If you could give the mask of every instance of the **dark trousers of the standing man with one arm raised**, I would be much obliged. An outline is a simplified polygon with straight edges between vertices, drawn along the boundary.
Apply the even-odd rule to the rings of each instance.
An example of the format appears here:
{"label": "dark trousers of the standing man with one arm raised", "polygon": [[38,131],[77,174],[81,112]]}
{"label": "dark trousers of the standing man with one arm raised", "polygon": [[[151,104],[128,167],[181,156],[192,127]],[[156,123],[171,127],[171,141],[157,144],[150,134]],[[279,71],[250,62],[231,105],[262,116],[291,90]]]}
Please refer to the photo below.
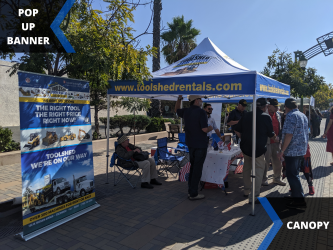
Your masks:
{"label": "dark trousers of the standing man with one arm raised", "polygon": [[198,185],[202,175],[202,167],[206,159],[207,148],[188,148],[190,152],[190,176],[188,179],[188,193],[191,197],[198,195]]}

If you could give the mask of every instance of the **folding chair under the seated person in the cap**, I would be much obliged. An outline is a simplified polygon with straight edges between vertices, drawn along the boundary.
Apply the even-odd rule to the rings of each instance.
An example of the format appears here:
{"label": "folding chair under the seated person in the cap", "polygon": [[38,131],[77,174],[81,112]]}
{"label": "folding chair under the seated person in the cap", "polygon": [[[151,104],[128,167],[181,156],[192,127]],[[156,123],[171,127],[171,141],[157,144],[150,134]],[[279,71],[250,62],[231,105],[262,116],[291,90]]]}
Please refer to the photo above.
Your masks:
{"label": "folding chair under the seated person in the cap", "polygon": [[[118,142],[115,142],[114,143],[114,148],[116,149],[117,146],[118,146]],[[121,164],[120,164],[120,161],[119,160],[122,160],[122,161],[126,161],[126,162],[131,162],[132,165],[130,167],[123,167]],[[119,157],[117,155],[116,152],[113,153],[112,157],[111,157],[111,162],[110,162],[110,167],[114,167],[114,176],[113,176],[113,179],[114,179],[114,185],[116,186],[122,179],[126,179],[126,181],[130,184],[130,186],[132,188],[136,188],[136,184],[138,183],[139,180],[141,180],[141,170],[138,166],[138,164],[135,162],[135,161],[132,161],[131,159],[129,160],[125,160],[121,157]],[[118,175],[118,178],[116,180],[116,168],[118,169],[119,171],[119,175]],[[130,174],[130,172],[132,172]],[[137,181],[135,182],[135,184],[132,184],[130,182],[130,179],[136,175],[136,173],[139,174],[139,178],[137,179]]]}

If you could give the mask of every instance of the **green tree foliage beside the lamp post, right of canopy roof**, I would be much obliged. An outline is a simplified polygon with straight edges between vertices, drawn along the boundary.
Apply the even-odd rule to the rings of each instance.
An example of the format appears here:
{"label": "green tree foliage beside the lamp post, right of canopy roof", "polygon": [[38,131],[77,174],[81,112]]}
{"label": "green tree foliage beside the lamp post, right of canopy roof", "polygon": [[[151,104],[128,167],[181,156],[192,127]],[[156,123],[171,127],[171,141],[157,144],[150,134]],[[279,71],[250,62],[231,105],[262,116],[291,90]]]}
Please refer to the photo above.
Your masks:
{"label": "green tree foliage beside the lamp post, right of canopy roof", "polygon": [[294,97],[309,97],[325,84],[324,77],[317,75],[315,68],[302,69],[298,61],[292,60],[290,53],[279,49],[274,50],[268,57],[261,73],[290,85],[290,92]]}

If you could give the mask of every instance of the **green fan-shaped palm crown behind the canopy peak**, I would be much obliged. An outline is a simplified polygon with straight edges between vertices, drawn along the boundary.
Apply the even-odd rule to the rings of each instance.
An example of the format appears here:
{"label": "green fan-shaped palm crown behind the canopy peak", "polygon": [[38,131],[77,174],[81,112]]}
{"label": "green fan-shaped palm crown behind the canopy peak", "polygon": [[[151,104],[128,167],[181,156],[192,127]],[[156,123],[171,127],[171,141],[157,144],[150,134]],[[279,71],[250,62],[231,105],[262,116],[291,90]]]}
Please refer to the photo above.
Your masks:
{"label": "green fan-shaped palm crown behind the canopy peak", "polygon": [[162,33],[165,43],[162,53],[169,64],[184,58],[197,46],[195,37],[200,30],[193,28],[192,23],[192,19],[186,22],[184,16],[174,17],[172,23],[168,23],[170,30]]}

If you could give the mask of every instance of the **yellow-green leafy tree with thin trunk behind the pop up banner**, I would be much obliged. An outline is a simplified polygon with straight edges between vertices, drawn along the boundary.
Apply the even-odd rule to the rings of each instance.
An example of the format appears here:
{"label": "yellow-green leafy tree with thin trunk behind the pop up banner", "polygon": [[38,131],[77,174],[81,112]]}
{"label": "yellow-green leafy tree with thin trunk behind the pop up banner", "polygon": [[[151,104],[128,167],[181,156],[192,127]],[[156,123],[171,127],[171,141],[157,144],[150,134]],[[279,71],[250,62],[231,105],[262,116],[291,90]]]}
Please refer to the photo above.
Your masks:
{"label": "yellow-green leafy tree with thin trunk behind the pop up banner", "polygon": [[108,80],[131,79],[143,83],[150,77],[146,67],[147,57],[155,53],[150,46],[137,49],[132,44],[133,29],[128,23],[134,22],[132,12],[136,5],[125,0],[106,2],[109,3],[107,13],[94,10],[86,0],[77,2],[65,32],[76,51],[75,54],[68,54],[68,72],[70,77],[90,82],[91,105],[96,106],[94,117],[97,132],[97,106],[105,102]]}

